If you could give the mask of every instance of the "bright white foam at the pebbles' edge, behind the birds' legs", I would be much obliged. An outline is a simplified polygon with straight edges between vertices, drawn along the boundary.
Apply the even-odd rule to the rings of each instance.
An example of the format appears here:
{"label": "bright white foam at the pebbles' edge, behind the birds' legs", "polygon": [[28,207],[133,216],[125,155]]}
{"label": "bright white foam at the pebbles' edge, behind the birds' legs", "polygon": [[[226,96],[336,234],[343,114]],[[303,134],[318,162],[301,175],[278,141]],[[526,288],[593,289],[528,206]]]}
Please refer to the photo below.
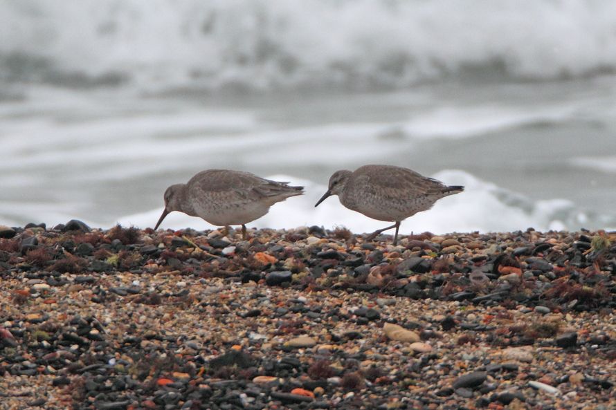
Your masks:
{"label": "bright white foam at the pebbles' edge, behind the birds' legs", "polygon": [[[434,175],[435,178],[451,185],[464,185],[465,191],[443,198],[426,212],[420,212],[402,223],[400,232],[430,231],[437,234],[446,232],[503,232],[525,230],[563,230],[579,228],[586,222],[586,214],[576,209],[570,201],[552,199],[531,201],[529,198],[507,192],[492,183],[487,183],[464,171],[448,170]],[[248,227],[293,228],[320,225],[327,229],[344,226],[353,232],[372,232],[388,225],[374,221],[362,214],[343,207],[337,197],[328,198],[314,207],[318,198],[326,191],[325,185],[300,180],[284,175],[269,176],[275,180],[291,181],[294,185],[305,185],[306,194],[289,198],[274,205],[269,214],[249,223]],[[161,200],[162,201],[162,200]],[[160,209],[119,218],[123,225],[138,227],[154,226]],[[107,226],[111,223],[107,223]],[[173,212],[161,225],[163,229],[193,227],[197,230],[211,229],[213,226],[200,218],[193,218]]]}

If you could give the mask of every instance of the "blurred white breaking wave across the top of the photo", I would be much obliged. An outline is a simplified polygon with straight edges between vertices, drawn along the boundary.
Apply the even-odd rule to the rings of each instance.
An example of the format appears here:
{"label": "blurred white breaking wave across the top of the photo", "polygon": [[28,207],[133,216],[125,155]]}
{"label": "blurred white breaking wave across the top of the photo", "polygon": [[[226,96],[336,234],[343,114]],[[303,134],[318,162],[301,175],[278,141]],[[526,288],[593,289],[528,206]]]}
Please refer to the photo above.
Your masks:
{"label": "blurred white breaking wave across the top of the photo", "polygon": [[9,0],[0,80],[399,86],[616,69],[613,1]]}

